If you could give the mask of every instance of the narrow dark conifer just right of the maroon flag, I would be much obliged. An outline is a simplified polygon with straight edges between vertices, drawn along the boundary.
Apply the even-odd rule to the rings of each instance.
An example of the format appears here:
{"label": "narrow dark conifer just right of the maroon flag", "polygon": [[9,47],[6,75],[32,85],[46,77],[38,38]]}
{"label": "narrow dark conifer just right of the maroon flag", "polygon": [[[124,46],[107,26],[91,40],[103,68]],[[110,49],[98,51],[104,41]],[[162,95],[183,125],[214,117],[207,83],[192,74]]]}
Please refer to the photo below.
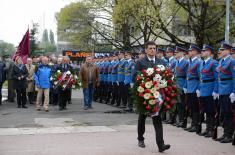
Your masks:
{"label": "narrow dark conifer just right of the maroon flag", "polygon": [[38,35],[38,23],[33,23],[33,28],[30,30],[30,56],[35,55],[35,51],[38,50],[37,35]]}

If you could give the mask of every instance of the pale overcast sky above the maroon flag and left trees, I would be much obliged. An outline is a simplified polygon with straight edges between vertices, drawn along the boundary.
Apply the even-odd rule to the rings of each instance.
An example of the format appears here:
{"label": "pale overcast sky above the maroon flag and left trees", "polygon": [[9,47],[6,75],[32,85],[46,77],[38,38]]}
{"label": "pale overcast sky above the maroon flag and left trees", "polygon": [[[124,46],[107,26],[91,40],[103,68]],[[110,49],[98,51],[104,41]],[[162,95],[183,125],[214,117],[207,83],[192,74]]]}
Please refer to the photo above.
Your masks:
{"label": "pale overcast sky above the maroon flag and left trees", "polygon": [[39,23],[40,33],[45,26],[56,35],[55,13],[72,1],[74,0],[0,0],[0,40],[17,46],[28,26],[32,27],[32,21]]}

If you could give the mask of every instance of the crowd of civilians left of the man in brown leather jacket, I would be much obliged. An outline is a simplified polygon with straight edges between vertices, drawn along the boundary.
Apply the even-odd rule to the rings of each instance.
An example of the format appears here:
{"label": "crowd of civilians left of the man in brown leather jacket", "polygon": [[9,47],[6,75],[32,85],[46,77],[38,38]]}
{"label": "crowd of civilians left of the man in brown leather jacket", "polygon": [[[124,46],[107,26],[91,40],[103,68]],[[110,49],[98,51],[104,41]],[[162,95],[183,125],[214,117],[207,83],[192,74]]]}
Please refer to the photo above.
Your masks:
{"label": "crowd of civilians left of the man in brown leather jacket", "polygon": [[[23,64],[21,57],[13,61],[7,58],[0,61],[0,88],[7,81],[8,102],[15,102],[18,108],[25,108],[26,103],[35,104],[36,110],[43,109],[48,112],[49,104],[59,105],[59,110],[66,110],[66,105],[71,104],[71,89],[62,90],[55,87],[51,76],[60,70],[62,73],[70,71],[78,74],[79,65],[70,62],[67,56],[40,56],[28,58]],[[2,101],[2,92],[0,93]]]}

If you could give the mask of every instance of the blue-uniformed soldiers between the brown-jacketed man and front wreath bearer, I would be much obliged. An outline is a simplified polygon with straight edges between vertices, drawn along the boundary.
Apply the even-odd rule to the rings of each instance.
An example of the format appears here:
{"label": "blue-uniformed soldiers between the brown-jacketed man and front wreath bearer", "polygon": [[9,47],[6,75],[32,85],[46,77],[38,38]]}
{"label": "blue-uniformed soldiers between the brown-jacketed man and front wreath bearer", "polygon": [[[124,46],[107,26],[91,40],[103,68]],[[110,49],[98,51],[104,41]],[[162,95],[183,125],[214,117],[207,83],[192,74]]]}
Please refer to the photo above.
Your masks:
{"label": "blue-uniformed soldiers between the brown-jacketed man and front wreath bearer", "polygon": [[94,59],[100,71],[100,85],[94,100],[132,111],[130,88],[133,86],[135,61],[130,52],[104,55]]}

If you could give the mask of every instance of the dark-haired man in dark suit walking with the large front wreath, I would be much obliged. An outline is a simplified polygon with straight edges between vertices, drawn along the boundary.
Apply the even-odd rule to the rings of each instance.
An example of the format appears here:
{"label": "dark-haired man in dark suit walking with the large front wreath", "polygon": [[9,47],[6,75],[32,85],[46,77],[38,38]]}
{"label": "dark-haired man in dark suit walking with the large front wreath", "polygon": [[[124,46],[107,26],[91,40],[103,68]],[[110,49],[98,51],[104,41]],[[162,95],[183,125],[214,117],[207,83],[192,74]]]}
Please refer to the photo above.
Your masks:
{"label": "dark-haired man in dark suit walking with the large front wreath", "polygon": [[[136,77],[137,71],[141,71],[142,69],[152,68],[156,65],[164,65],[166,66],[165,62],[161,59],[158,59],[156,57],[156,44],[153,41],[149,41],[145,44],[145,53],[146,56],[143,59],[140,59],[137,61],[134,71],[134,79]],[[139,113],[138,118],[138,145],[139,147],[144,148],[144,132],[145,132],[145,120],[147,118],[146,114]],[[162,127],[162,120],[161,120],[161,114],[152,116],[153,120],[153,126],[155,129],[155,135],[156,135],[156,142],[158,145],[159,152],[163,152],[165,150],[168,150],[170,148],[169,144],[164,144],[163,140],[163,127]]]}

